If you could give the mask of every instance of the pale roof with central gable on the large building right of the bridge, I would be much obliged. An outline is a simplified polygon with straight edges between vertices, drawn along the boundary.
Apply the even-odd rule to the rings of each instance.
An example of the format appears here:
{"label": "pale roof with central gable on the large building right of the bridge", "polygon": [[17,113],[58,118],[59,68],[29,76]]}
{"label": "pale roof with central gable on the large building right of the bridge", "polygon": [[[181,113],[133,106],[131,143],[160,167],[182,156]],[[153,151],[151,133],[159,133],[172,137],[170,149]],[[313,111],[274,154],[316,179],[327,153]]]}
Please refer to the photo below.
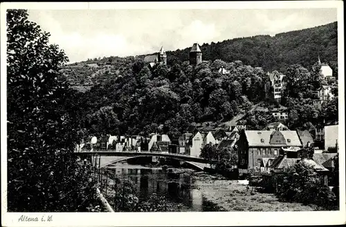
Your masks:
{"label": "pale roof with central gable on the large building right of the bridge", "polygon": [[[275,138],[280,137],[277,139],[280,141],[273,141],[272,134]],[[248,146],[302,146],[298,133],[295,131],[245,130],[245,135]]]}

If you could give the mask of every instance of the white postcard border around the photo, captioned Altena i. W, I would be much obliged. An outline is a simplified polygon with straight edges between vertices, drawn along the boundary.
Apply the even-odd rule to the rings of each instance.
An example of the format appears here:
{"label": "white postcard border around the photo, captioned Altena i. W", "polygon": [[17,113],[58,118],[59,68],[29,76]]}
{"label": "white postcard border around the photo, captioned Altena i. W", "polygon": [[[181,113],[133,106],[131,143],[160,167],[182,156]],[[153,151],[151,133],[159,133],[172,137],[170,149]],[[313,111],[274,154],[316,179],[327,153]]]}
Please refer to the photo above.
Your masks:
{"label": "white postcard border around the photo, captioned Altena i. W", "polygon": [[[345,223],[345,92],[343,1],[246,1],[246,2],[122,2],[122,3],[1,3],[1,226],[264,226]],[[6,9],[338,9],[338,78],[340,141],[340,211],[325,212],[222,212],[222,213],[28,213],[53,215],[53,221],[19,222],[26,213],[6,213]],[[342,138],[342,139],[341,139]]]}

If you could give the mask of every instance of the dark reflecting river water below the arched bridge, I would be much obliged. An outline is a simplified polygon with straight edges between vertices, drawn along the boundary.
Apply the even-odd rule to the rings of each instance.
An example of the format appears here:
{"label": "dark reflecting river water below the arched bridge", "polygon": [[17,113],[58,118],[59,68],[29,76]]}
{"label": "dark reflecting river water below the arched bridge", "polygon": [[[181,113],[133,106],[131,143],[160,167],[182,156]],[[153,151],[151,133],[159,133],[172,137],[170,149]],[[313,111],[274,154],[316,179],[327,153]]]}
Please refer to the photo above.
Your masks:
{"label": "dark reflecting river water below the arched bridge", "polygon": [[201,190],[194,185],[192,175],[196,170],[189,168],[149,167],[139,164],[117,163],[108,166],[108,170],[118,177],[130,179],[136,187],[137,197],[145,201],[156,193],[164,195],[174,211],[218,211],[219,208],[203,196]]}

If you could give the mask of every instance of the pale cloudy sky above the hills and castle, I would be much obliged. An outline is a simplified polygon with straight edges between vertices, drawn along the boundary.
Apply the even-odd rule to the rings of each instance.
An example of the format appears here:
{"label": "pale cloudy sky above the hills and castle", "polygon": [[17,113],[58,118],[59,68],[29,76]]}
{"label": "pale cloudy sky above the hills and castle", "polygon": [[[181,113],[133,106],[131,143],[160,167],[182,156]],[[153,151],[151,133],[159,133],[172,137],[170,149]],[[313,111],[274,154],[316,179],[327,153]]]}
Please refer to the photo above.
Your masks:
{"label": "pale cloudy sky above the hills and castle", "polygon": [[51,33],[71,63],[184,49],[258,34],[312,28],[337,21],[335,8],[271,10],[28,10]]}

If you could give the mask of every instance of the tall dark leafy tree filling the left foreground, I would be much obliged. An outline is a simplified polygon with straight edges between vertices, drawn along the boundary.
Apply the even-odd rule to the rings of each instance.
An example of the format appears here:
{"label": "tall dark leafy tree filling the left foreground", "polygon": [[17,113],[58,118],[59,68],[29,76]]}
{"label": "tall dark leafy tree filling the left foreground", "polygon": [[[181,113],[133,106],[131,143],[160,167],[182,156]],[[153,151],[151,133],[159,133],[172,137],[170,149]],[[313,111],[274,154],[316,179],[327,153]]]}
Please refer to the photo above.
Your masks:
{"label": "tall dark leafy tree filling the left foreground", "polygon": [[71,152],[73,91],[58,81],[68,60],[26,10],[7,12],[8,210],[86,211],[95,188]]}

